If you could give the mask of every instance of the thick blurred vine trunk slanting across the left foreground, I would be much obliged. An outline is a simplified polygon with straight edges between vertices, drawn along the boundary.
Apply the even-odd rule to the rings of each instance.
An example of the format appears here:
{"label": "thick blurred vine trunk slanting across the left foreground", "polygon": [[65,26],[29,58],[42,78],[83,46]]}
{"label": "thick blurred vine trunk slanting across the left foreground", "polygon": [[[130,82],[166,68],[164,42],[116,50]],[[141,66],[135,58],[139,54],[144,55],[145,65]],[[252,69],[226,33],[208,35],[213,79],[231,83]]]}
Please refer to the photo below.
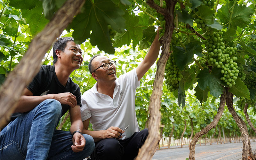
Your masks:
{"label": "thick blurred vine trunk slanting across the left foreground", "polygon": [[68,0],[65,2],[44,30],[31,41],[27,53],[8,75],[0,89],[0,127],[9,121],[25,86],[39,71],[44,54],[80,11],[84,2],[85,0]]}

